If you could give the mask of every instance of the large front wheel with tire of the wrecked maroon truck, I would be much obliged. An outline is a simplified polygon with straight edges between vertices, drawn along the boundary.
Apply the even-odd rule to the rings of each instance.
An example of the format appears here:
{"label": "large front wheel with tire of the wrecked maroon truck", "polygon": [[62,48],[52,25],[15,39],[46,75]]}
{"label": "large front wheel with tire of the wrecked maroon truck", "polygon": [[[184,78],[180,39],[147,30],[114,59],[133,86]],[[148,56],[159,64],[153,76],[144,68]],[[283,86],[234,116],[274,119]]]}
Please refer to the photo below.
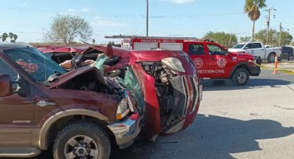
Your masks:
{"label": "large front wheel with tire of the wrecked maroon truck", "polygon": [[59,132],[53,145],[57,158],[109,158],[111,144],[107,133],[91,122],[75,122]]}

